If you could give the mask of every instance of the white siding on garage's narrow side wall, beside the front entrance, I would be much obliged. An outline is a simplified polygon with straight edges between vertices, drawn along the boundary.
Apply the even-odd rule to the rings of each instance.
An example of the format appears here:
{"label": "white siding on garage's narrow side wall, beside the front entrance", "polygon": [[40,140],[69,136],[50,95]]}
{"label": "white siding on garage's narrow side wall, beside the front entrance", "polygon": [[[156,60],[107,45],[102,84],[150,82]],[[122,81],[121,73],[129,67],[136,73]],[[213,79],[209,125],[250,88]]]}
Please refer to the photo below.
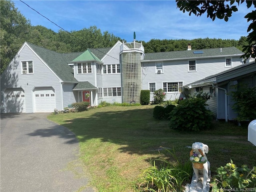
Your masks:
{"label": "white siding on garage's narrow side wall, beside the front entrance", "polygon": [[74,85],[75,84],[72,83],[62,84],[63,108],[76,102],[76,98],[74,96],[75,92],[72,91]]}

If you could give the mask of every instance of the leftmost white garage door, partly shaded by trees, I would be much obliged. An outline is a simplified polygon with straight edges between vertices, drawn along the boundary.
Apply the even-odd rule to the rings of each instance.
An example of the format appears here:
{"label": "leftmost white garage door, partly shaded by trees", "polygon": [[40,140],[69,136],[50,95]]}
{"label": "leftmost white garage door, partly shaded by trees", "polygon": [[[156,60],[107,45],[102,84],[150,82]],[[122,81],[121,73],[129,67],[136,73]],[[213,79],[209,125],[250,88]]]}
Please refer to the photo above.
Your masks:
{"label": "leftmost white garage door, partly shaded by trees", "polygon": [[22,88],[5,90],[6,113],[25,113],[25,93]]}

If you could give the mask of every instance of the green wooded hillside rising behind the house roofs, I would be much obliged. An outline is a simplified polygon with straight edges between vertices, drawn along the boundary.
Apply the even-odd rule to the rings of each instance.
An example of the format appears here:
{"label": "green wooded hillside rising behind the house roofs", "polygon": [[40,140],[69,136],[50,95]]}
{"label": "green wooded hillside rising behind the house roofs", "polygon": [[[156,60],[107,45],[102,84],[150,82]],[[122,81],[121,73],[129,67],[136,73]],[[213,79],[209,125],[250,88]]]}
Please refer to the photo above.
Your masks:
{"label": "green wooded hillside rising behind the house roofs", "polygon": [[[10,0],[1,0],[0,10],[1,74],[25,41],[61,53],[80,52],[87,48],[112,47],[118,40],[126,41],[108,31],[101,32],[96,26],[70,32],[64,30],[54,32],[44,26],[32,26],[30,20],[25,18]],[[242,50],[242,46],[248,44],[246,37],[241,37],[240,40],[198,38],[141,41],[146,53],[186,50],[188,43],[192,44],[193,50],[230,46]]]}

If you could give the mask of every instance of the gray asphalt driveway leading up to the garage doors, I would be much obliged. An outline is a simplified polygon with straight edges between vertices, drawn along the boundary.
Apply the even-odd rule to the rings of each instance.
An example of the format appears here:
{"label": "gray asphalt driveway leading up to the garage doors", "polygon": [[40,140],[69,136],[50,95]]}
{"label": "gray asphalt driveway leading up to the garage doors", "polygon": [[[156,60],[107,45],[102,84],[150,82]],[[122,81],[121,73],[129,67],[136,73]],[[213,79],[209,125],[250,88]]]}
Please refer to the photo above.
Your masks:
{"label": "gray asphalt driveway leading up to the garage doors", "polygon": [[1,114],[1,192],[94,192],[79,146],[47,113]]}

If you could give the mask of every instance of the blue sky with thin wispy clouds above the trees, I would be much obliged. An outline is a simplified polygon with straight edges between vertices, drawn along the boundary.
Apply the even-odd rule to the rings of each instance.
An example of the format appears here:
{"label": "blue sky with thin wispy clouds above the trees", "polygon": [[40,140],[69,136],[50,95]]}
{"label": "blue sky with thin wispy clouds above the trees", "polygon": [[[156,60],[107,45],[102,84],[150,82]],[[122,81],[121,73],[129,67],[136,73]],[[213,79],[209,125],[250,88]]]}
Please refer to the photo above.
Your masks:
{"label": "blue sky with thin wispy clouds above the trees", "polygon": [[[22,0],[23,1],[23,0]],[[24,1],[58,26],[67,31],[97,26],[103,33],[133,41],[148,42],[151,39],[221,38],[239,40],[247,36],[248,23],[244,16],[249,12],[246,4],[238,7],[225,22],[216,18],[214,22],[207,15],[196,17],[177,9],[175,1]],[[30,20],[33,26],[42,25],[58,32],[60,28],[40,16],[26,4],[14,0],[15,7]],[[251,9],[250,9],[251,10]]]}

